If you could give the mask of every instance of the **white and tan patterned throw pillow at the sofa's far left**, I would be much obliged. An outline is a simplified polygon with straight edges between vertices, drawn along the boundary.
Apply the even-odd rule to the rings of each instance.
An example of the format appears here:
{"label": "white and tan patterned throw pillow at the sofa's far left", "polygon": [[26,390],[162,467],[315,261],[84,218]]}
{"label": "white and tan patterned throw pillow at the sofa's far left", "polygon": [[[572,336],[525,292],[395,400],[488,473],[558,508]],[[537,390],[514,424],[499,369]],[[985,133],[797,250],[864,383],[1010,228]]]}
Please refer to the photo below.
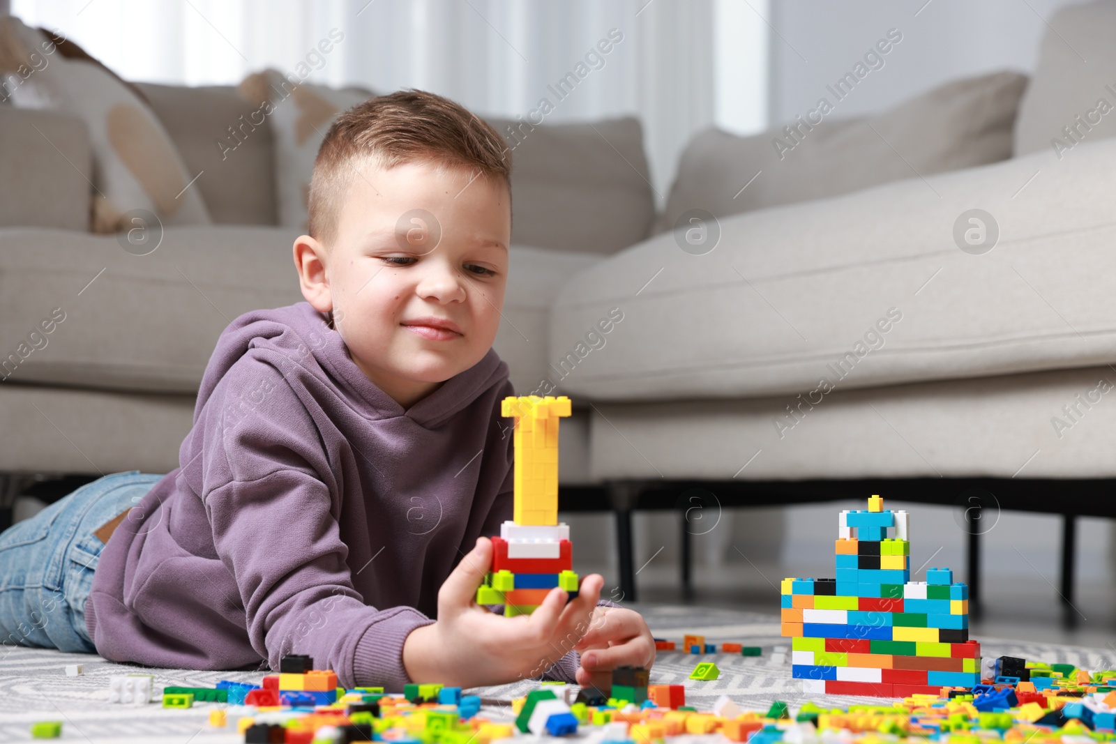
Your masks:
{"label": "white and tan patterned throw pillow at the sofa's far left", "polygon": [[[31,55],[51,45],[18,18],[0,18],[0,73],[33,66]],[[41,51],[40,51],[41,50]],[[94,231],[125,226],[132,210],[153,212],[164,224],[208,224],[209,213],[166,131],[147,105],[118,78],[88,60],[54,54],[16,86],[16,106],[49,108],[80,117],[88,128],[95,167]]]}

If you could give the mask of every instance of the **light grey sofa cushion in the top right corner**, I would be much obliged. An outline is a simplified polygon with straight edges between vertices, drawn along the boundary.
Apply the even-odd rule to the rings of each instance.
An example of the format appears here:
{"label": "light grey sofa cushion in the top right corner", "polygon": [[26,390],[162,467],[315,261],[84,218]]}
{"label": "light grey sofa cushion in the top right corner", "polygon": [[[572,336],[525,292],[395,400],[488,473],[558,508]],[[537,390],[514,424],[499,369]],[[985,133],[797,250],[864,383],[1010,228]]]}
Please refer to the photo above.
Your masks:
{"label": "light grey sofa cushion in the top right corner", "polygon": [[1116,135],[1116,2],[1066,6],[1047,26],[1019,105],[1014,153],[1045,151],[1050,164],[1078,142]]}

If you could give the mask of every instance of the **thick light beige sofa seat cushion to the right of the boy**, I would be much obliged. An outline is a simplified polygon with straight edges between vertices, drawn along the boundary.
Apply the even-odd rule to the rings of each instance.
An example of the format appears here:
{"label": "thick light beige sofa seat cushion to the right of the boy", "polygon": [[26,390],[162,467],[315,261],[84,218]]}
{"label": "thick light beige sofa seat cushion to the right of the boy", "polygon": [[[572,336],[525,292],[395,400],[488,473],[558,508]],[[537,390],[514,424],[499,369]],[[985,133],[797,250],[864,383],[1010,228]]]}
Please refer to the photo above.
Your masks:
{"label": "thick light beige sofa seat cushion to the right of the boy", "polygon": [[[1116,139],[664,233],[570,279],[559,356],[609,308],[623,322],[561,393],[612,400],[825,396],[1116,359]],[[1041,171],[1041,172],[1040,172]],[[968,212],[981,209],[988,232]],[[992,232],[998,243],[991,244]],[[959,245],[964,245],[962,251]],[[703,248],[702,250],[706,250]],[[700,251],[696,251],[700,252]],[[843,374],[844,373],[844,374]]]}

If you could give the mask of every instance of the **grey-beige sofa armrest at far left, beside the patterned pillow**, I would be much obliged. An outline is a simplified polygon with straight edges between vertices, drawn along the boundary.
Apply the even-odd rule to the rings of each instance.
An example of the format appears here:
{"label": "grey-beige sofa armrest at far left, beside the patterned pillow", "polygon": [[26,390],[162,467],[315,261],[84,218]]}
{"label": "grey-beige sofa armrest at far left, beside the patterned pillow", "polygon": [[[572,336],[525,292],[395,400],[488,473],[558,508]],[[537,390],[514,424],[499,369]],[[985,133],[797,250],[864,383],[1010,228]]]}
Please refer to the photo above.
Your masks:
{"label": "grey-beige sofa armrest at far left, beside the patterned pillow", "polygon": [[0,106],[0,226],[88,231],[92,178],[78,118]]}

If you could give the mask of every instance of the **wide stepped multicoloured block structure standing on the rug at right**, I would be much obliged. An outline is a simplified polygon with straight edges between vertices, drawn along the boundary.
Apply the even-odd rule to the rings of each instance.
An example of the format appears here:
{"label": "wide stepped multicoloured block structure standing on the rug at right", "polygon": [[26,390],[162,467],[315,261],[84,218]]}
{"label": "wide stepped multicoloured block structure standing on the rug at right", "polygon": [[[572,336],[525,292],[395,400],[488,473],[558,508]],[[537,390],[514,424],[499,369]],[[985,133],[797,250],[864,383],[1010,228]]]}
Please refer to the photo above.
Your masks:
{"label": "wide stepped multicoloured block structure standing on the rug at right", "polygon": [[[891,537],[888,537],[891,531]],[[910,514],[843,511],[835,579],[783,579],[782,635],[806,693],[906,697],[980,684],[969,588],[950,569],[911,581]]]}

